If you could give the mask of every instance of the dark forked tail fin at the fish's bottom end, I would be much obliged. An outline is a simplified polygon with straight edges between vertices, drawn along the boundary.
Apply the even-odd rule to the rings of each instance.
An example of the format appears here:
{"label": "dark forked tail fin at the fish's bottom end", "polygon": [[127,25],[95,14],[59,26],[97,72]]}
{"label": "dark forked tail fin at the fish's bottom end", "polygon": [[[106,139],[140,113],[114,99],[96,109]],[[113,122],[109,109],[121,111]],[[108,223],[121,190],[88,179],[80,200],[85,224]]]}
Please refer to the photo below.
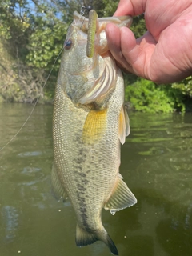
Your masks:
{"label": "dark forked tail fin at the fish's bottom end", "polygon": [[106,246],[109,247],[111,254],[118,255],[118,249],[116,248],[114,242],[110,238],[109,234],[106,233],[106,230],[104,228],[100,232],[91,233],[77,225],[75,239],[77,246],[87,246],[98,240],[105,242]]}

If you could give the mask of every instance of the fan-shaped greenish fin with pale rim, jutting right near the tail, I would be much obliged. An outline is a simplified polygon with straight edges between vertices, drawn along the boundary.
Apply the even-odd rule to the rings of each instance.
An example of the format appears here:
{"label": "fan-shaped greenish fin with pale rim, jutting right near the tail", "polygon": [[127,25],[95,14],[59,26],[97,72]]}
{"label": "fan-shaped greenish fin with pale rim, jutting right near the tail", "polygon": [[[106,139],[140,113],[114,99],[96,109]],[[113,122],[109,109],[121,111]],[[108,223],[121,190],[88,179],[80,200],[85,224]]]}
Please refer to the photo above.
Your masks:
{"label": "fan-shaped greenish fin with pale rim, jutting right near the tail", "polygon": [[110,213],[114,215],[116,211],[133,206],[136,202],[137,199],[134,197],[134,194],[126,186],[126,183],[122,181],[122,176],[118,174],[117,186],[108,202],[106,202],[105,210],[110,210]]}

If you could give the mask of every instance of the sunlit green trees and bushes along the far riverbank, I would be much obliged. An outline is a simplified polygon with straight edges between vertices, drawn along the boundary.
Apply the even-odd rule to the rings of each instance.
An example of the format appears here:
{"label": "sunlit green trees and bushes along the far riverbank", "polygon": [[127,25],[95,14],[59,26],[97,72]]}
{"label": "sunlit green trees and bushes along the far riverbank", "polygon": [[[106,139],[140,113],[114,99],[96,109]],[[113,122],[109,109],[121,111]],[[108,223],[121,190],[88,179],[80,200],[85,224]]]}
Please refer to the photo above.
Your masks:
{"label": "sunlit green trees and bushes along the far riverbank", "polygon": [[[74,10],[90,1],[2,0],[0,3],[0,102],[51,103],[60,57],[55,63]],[[92,1],[98,17],[114,14],[118,0]],[[143,15],[134,18],[136,37],[145,31]],[[53,68],[51,74],[50,70]],[[46,82],[46,78],[50,78]],[[192,76],[182,82],[157,85],[124,74],[129,108],[150,113],[192,110]],[[46,82],[45,88],[42,90]]]}

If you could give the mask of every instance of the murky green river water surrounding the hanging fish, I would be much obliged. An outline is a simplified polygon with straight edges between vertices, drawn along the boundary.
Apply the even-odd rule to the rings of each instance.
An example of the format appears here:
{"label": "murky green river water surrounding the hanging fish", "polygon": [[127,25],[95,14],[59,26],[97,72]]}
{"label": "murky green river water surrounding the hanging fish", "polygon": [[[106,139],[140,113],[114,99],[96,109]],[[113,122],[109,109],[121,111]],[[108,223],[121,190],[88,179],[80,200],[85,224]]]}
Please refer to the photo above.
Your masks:
{"label": "murky green river water surrounding the hanging fish", "polygon": [[[0,148],[32,106],[0,105]],[[36,106],[0,152],[1,256],[106,256],[102,242],[75,246],[70,202],[51,194],[52,106]],[[121,256],[192,255],[192,114],[130,113],[120,172],[138,203],[102,221]]]}

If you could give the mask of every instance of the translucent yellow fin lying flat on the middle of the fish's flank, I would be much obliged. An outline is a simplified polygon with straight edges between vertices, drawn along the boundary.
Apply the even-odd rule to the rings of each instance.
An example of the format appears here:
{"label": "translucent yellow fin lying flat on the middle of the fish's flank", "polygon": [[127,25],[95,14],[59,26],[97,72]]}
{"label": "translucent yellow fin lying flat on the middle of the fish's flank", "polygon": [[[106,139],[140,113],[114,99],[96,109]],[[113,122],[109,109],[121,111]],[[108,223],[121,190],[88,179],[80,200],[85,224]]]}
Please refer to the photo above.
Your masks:
{"label": "translucent yellow fin lying flat on the middle of the fish's flank", "polygon": [[90,110],[82,130],[83,142],[93,144],[102,138],[106,130],[106,115],[107,109]]}

